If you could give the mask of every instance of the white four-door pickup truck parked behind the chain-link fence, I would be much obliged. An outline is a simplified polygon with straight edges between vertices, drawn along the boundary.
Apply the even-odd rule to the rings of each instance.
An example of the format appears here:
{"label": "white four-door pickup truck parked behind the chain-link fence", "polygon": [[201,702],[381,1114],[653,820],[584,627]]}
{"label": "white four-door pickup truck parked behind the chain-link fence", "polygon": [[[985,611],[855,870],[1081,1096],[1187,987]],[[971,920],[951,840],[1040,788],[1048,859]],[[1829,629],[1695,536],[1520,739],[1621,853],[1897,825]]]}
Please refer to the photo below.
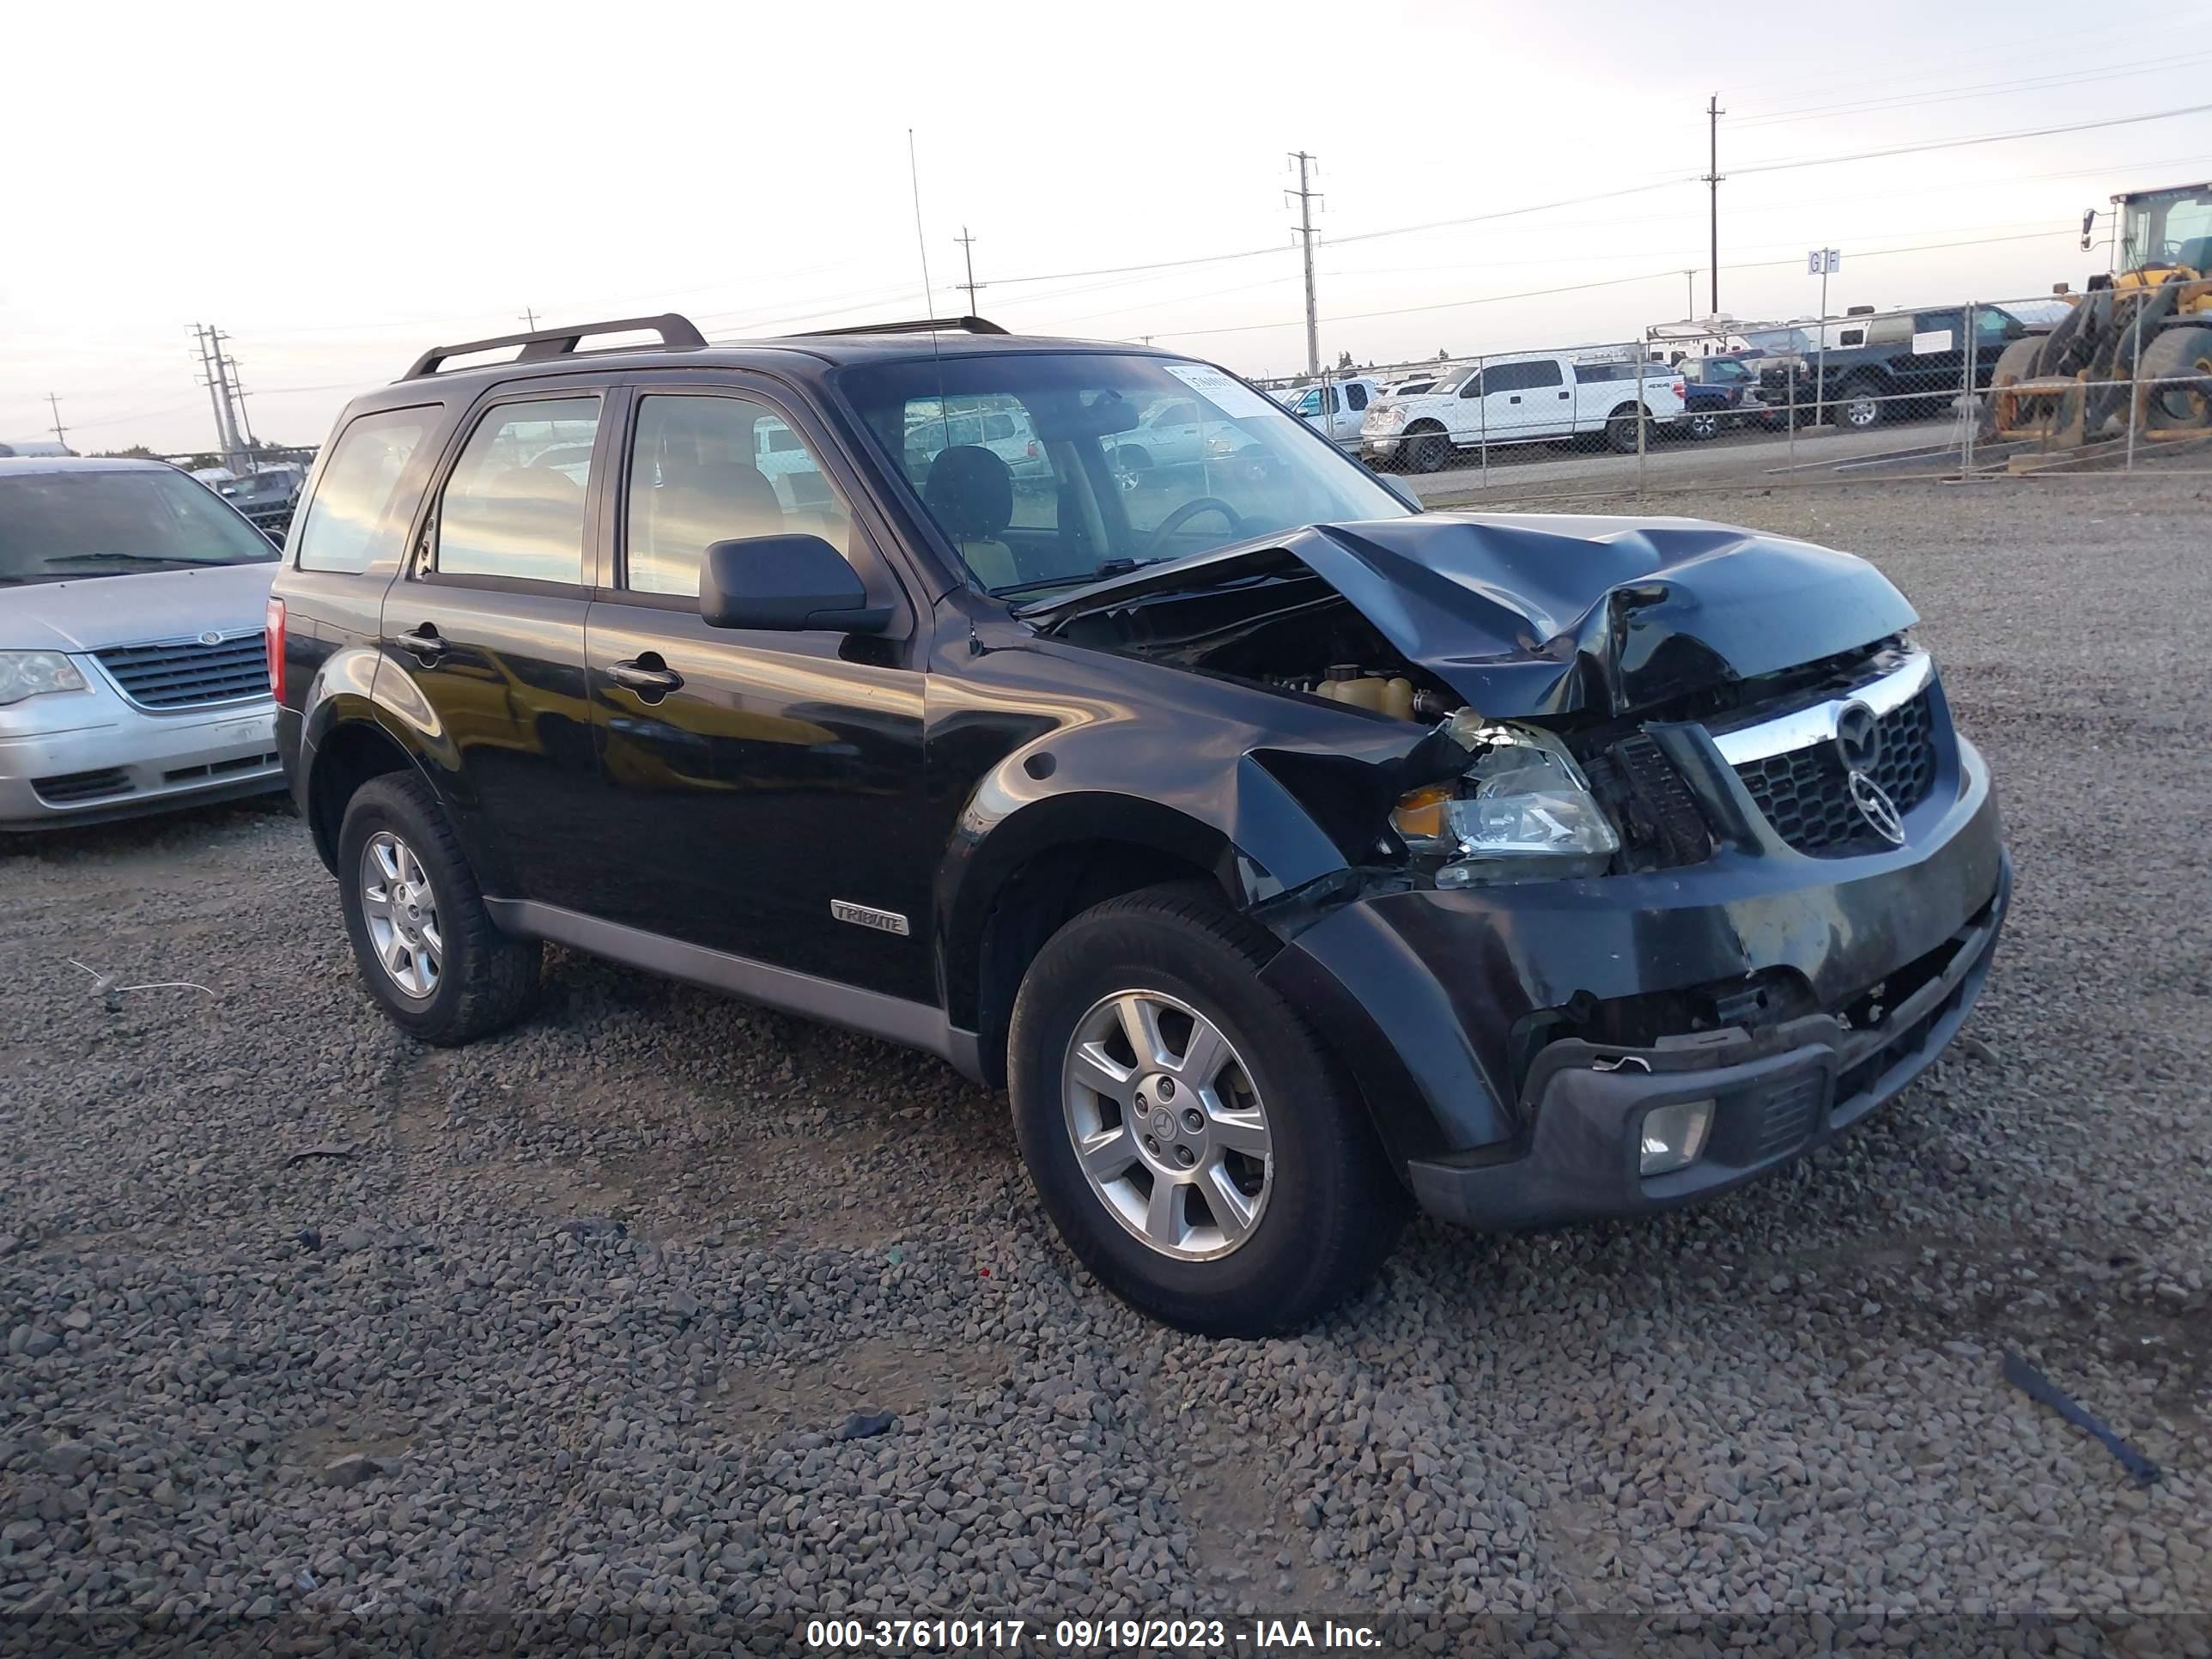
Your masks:
{"label": "white four-door pickup truck parked behind the chain-link fence", "polygon": [[[1674,369],[1644,365],[1646,440],[1681,420]],[[1460,449],[1548,438],[1604,436],[1637,447],[1637,361],[1621,347],[1522,352],[1444,374],[1416,398],[1383,398],[1360,422],[1360,456],[1376,467],[1433,473]]]}

